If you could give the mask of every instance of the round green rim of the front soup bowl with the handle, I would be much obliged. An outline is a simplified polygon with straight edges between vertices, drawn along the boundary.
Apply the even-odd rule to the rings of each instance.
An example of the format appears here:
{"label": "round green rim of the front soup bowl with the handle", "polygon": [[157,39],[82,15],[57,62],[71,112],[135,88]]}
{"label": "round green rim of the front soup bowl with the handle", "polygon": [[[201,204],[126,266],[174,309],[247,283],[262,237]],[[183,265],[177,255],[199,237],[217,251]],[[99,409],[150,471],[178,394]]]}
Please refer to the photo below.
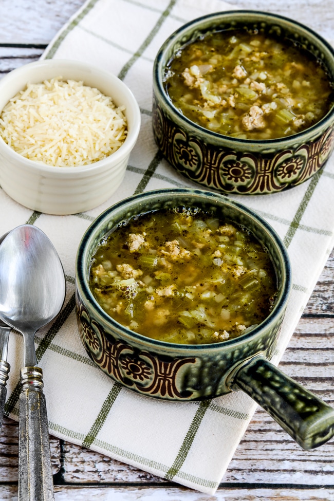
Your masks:
{"label": "round green rim of the front soup bowl with the handle", "polygon": [[[89,243],[94,239],[95,233],[99,230],[101,226],[103,226],[103,224],[105,224],[105,222],[107,222],[108,219],[110,219],[110,217],[112,217],[113,212],[117,211],[118,209],[127,206],[133,206],[142,199],[145,200],[146,198],[148,198],[149,200],[153,200],[154,198],[158,198],[159,196],[163,196],[165,194],[169,194],[171,196],[176,195],[179,197],[181,197],[182,195],[190,195],[194,196],[194,198],[206,197],[208,201],[210,201],[211,199],[212,202],[214,202],[214,200],[216,199],[216,201],[218,201],[220,205],[228,205],[242,212],[243,214],[246,214],[247,217],[250,217],[251,219],[255,220],[256,225],[262,227],[270,235],[273,244],[275,245],[278,253],[281,255],[281,260],[283,264],[282,291],[269,315],[260,324],[258,324],[257,327],[254,327],[246,334],[219,343],[207,343],[207,344],[178,344],[178,343],[160,341],[154,338],[149,338],[147,336],[141,335],[118,323],[103,310],[103,308],[94,298],[94,295],[92,294],[89,288],[86,276],[85,263],[87,259],[89,261],[91,259],[91,255],[88,255],[88,247]],[[141,211],[140,213],[143,212],[144,211]],[[106,235],[110,231],[111,230],[106,231],[104,235]],[[282,312],[285,311],[292,287],[292,276],[291,276],[292,271],[287,250],[280,236],[262,216],[258,215],[256,212],[246,207],[243,203],[240,203],[236,200],[232,200],[226,197],[225,195],[209,192],[206,190],[188,189],[188,188],[159,189],[159,190],[152,190],[139,193],[137,195],[133,195],[131,197],[122,199],[119,202],[115,203],[113,206],[110,206],[105,211],[103,211],[87,228],[81,239],[76,256],[75,274],[76,274],[77,291],[80,292],[80,295],[83,298],[84,302],[88,302],[90,306],[94,308],[95,314],[99,319],[99,322],[101,322],[101,325],[111,324],[112,328],[115,328],[116,331],[120,331],[124,338],[133,339],[137,343],[146,345],[152,344],[153,346],[160,347],[166,351],[177,350],[178,352],[184,352],[185,355],[187,353],[189,354],[189,352],[193,350],[195,351],[212,350],[212,349],[221,349],[224,347],[231,347],[231,346],[237,347],[238,345],[244,344],[245,342],[248,342],[253,338],[256,338],[258,335],[261,335],[261,332],[264,329],[270,328],[271,324],[274,325],[276,320],[279,319],[279,317],[281,316]]]}

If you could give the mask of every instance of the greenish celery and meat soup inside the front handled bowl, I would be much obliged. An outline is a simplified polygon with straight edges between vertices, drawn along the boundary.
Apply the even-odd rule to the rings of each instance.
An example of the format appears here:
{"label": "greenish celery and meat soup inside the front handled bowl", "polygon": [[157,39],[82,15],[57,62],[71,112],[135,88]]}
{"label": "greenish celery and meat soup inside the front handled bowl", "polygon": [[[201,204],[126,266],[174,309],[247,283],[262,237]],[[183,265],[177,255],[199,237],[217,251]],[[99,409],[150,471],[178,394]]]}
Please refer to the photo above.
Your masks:
{"label": "greenish celery and meat soup inside the front handled bowl", "polygon": [[161,210],[120,225],[92,258],[89,286],[120,324],[179,344],[217,343],[261,323],[276,276],[245,228],[197,210]]}

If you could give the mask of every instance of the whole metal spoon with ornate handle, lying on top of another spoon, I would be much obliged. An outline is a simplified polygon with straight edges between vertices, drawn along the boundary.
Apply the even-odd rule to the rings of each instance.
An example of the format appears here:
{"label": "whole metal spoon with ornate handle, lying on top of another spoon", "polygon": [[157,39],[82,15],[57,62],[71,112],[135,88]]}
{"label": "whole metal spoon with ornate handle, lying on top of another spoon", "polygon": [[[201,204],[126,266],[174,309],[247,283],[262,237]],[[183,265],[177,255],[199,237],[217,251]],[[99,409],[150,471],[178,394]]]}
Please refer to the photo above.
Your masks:
{"label": "whole metal spoon with ornate handle, lying on top of another spoon", "polygon": [[65,299],[64,270],[48,237],[18,226],[0,245],[0,319],[24,338],[18,437],[19,501],[51,501],[53,483],[43,372],[34,335],[59,313]]}

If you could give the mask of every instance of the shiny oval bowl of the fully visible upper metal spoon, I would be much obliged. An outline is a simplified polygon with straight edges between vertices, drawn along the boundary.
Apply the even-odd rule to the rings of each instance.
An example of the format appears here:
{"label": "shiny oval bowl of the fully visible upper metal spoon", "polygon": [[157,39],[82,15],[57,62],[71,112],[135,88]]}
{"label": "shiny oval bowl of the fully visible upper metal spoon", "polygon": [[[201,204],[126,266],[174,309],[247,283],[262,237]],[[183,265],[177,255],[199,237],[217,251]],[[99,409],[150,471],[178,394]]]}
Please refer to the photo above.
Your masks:
{"label": "shiny oval bowl of the fully visible upper metal spoon", "polygon": [[[0,247],[2,320],[26,338],[59,313],[64,298],[63,267],[45,233],[31,225],[12,230]],[[35,363],[25,360],[26,366]]]}

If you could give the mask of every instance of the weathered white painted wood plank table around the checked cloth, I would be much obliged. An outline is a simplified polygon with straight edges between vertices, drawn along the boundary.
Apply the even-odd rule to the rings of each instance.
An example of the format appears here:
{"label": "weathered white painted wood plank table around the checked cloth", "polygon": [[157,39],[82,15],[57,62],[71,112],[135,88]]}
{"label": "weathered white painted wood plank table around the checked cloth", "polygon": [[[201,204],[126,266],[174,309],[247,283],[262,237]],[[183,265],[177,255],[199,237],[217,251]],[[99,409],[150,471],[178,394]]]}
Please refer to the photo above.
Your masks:
{"label": "weathered white painted wood plank table around the checked cloth", "polygon": [[[39,59],[82,4],[83,0],[0,0],[0,78]],[[297,18],[324,36],[333,29],[332,0],[253,0],[251,5],[234,0],[234,5]],[[334,252],[280,364],[284,372],[331,405],[333,287]],[[5,418],[0,437],[0,500],[17,499],[17,435],[17,423]],[[256,411],[214,496],[182,488],[53,437],[51,454],[56,501],[334,500],[334,441],[314,451],[302,451],[261,409]]]}

